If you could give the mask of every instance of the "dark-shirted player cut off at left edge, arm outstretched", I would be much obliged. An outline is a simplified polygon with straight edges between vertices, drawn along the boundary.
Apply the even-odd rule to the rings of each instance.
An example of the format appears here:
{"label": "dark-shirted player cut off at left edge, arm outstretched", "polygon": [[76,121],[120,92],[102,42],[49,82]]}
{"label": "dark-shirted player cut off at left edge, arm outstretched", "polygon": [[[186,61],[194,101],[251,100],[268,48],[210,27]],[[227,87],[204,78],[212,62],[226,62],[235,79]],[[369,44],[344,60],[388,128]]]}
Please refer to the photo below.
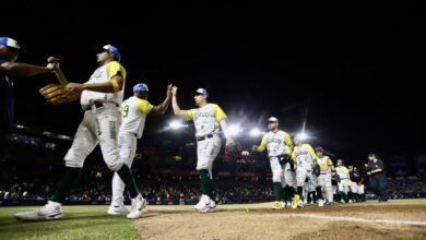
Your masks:
{"label": "dark-shirted player cut off at left edge, arm outstretched", "polygon": [[[47,67],[15,62],[21,46],[10,37],[0,37],[0,130],[14,123],[14,88],[10,76],[32,76],[54,73],[52,63]],[[4,79],[4,81],[3,81]]]}

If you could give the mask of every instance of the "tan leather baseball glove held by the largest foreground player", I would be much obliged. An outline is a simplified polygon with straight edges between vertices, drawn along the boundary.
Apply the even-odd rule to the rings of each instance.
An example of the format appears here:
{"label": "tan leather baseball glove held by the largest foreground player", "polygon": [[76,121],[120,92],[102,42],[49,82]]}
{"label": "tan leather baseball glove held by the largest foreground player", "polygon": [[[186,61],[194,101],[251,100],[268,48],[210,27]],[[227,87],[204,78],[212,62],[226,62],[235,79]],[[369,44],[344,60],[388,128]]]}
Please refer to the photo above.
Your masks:
{"label": "tan leather baseball glove held by the largest foreground player", "polygon": [[66,88],[64,85],[50,83],[39,89],[47,103],[52,105],[68,104],[80,98],[80,93],[74,93]]}

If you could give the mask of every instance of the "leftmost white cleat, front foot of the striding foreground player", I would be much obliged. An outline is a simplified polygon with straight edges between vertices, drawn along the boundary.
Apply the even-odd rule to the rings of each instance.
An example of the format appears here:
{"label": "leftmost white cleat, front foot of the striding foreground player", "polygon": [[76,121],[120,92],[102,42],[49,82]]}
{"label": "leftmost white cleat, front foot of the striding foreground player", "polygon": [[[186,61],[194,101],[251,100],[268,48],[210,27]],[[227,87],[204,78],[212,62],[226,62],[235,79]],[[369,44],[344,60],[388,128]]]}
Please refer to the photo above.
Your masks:
{"label": "leftmost white cleat, front foot of the striding foreground player", "polygon": [[56,220],[62,217],[61,204],[51,201],[38,209],[15,214],[15,218],[19,220]]}

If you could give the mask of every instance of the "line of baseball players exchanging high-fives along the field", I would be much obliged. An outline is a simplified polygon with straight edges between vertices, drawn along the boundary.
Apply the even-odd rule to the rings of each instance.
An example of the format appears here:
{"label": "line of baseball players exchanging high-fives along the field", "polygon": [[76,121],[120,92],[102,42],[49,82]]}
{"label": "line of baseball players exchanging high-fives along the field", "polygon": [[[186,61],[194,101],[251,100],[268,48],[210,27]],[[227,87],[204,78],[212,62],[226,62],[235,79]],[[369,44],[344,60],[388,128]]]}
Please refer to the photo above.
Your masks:
{"label": "line of baseball players exchanging high-fives along the field", "polygon": [[[15,62],[20,48],[16,40],[0,37],[0,74],[4,75],[8,84],[0,93],[4,103],[1,109],[2,129],[8,129],[13,123],[14,96],[10,76],[49,74],[59,70],[59,62],[49,62],[46,67]],[[146,200],[140,194],[131,171],[137,142],[143,135],[146,116],[164,115],[170,101],[175,116],[193,121],[196,128],[196,169],[200,175],[202,195],[194,208],[200,213],[214,212],[216,195],[212,168],[214,159],[221,152],[220,133],[224,134],[226,145],[234,144],[226,123],[226,113],[218,105],[209,103],[209,93],[205,88],[198,88],[193,93],[198,108],[181,109],[177,99],[178,87],[171,84],[167,86],[166,96],[159,105],[149,101],[150,91],[144,83],[135,84],[133,95],[123,100],[127,72],[120,63],[118,48],[105,45],[97,50],[96,58],[98,68],[88,81],[69,82],[64,86],[67,91],[80,95],[84,116],[63,158],[66,167],[54,197],[38,209],[17,213],[15,217],[21,220],[62,218],[64,216],[62,203],[67,193],[79,180],[86,157],[99,145],[105,164],[114,171],[113,197],[108,214],[123,215],[129,219],[140,218]],[[275,197],[272,208],[304,207],[309,194],[312,194],[319,206],[333,203],[332,178],[338,180],[342,203],[351,200],[347,194],[364,194],[363,181],[351,178],[351,171],[342,159],[339,159],[334,167],[322,147],[312,148],[299,136],[292,140],[287,132],[279,129],[279,119],[275,117],[268,119],[268,129],[269,132],[263,134],[260,145],[252,146],[252,152],[268,151]],[[250,153],[246,151],[244,154]],[[125,189],[131,197],[130,211],[125,206]]]}

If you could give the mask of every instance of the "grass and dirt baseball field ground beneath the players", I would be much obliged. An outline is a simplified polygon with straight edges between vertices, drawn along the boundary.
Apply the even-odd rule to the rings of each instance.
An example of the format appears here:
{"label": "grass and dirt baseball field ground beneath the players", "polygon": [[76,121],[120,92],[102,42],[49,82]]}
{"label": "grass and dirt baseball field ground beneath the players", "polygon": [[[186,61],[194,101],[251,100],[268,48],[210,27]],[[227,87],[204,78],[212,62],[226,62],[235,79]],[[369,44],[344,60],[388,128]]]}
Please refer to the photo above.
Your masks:
{"label": "grass and dirt baseball field ground beneath the players", "polygon": [[220,205],[200,214],[192,206],[149,205],[137,220],[108,216],[107,206],[64,206],[63,219],[38,223],[13,217],[34,207],[0,207],[0,239],[426,239],[426,200],[271,206]]}

